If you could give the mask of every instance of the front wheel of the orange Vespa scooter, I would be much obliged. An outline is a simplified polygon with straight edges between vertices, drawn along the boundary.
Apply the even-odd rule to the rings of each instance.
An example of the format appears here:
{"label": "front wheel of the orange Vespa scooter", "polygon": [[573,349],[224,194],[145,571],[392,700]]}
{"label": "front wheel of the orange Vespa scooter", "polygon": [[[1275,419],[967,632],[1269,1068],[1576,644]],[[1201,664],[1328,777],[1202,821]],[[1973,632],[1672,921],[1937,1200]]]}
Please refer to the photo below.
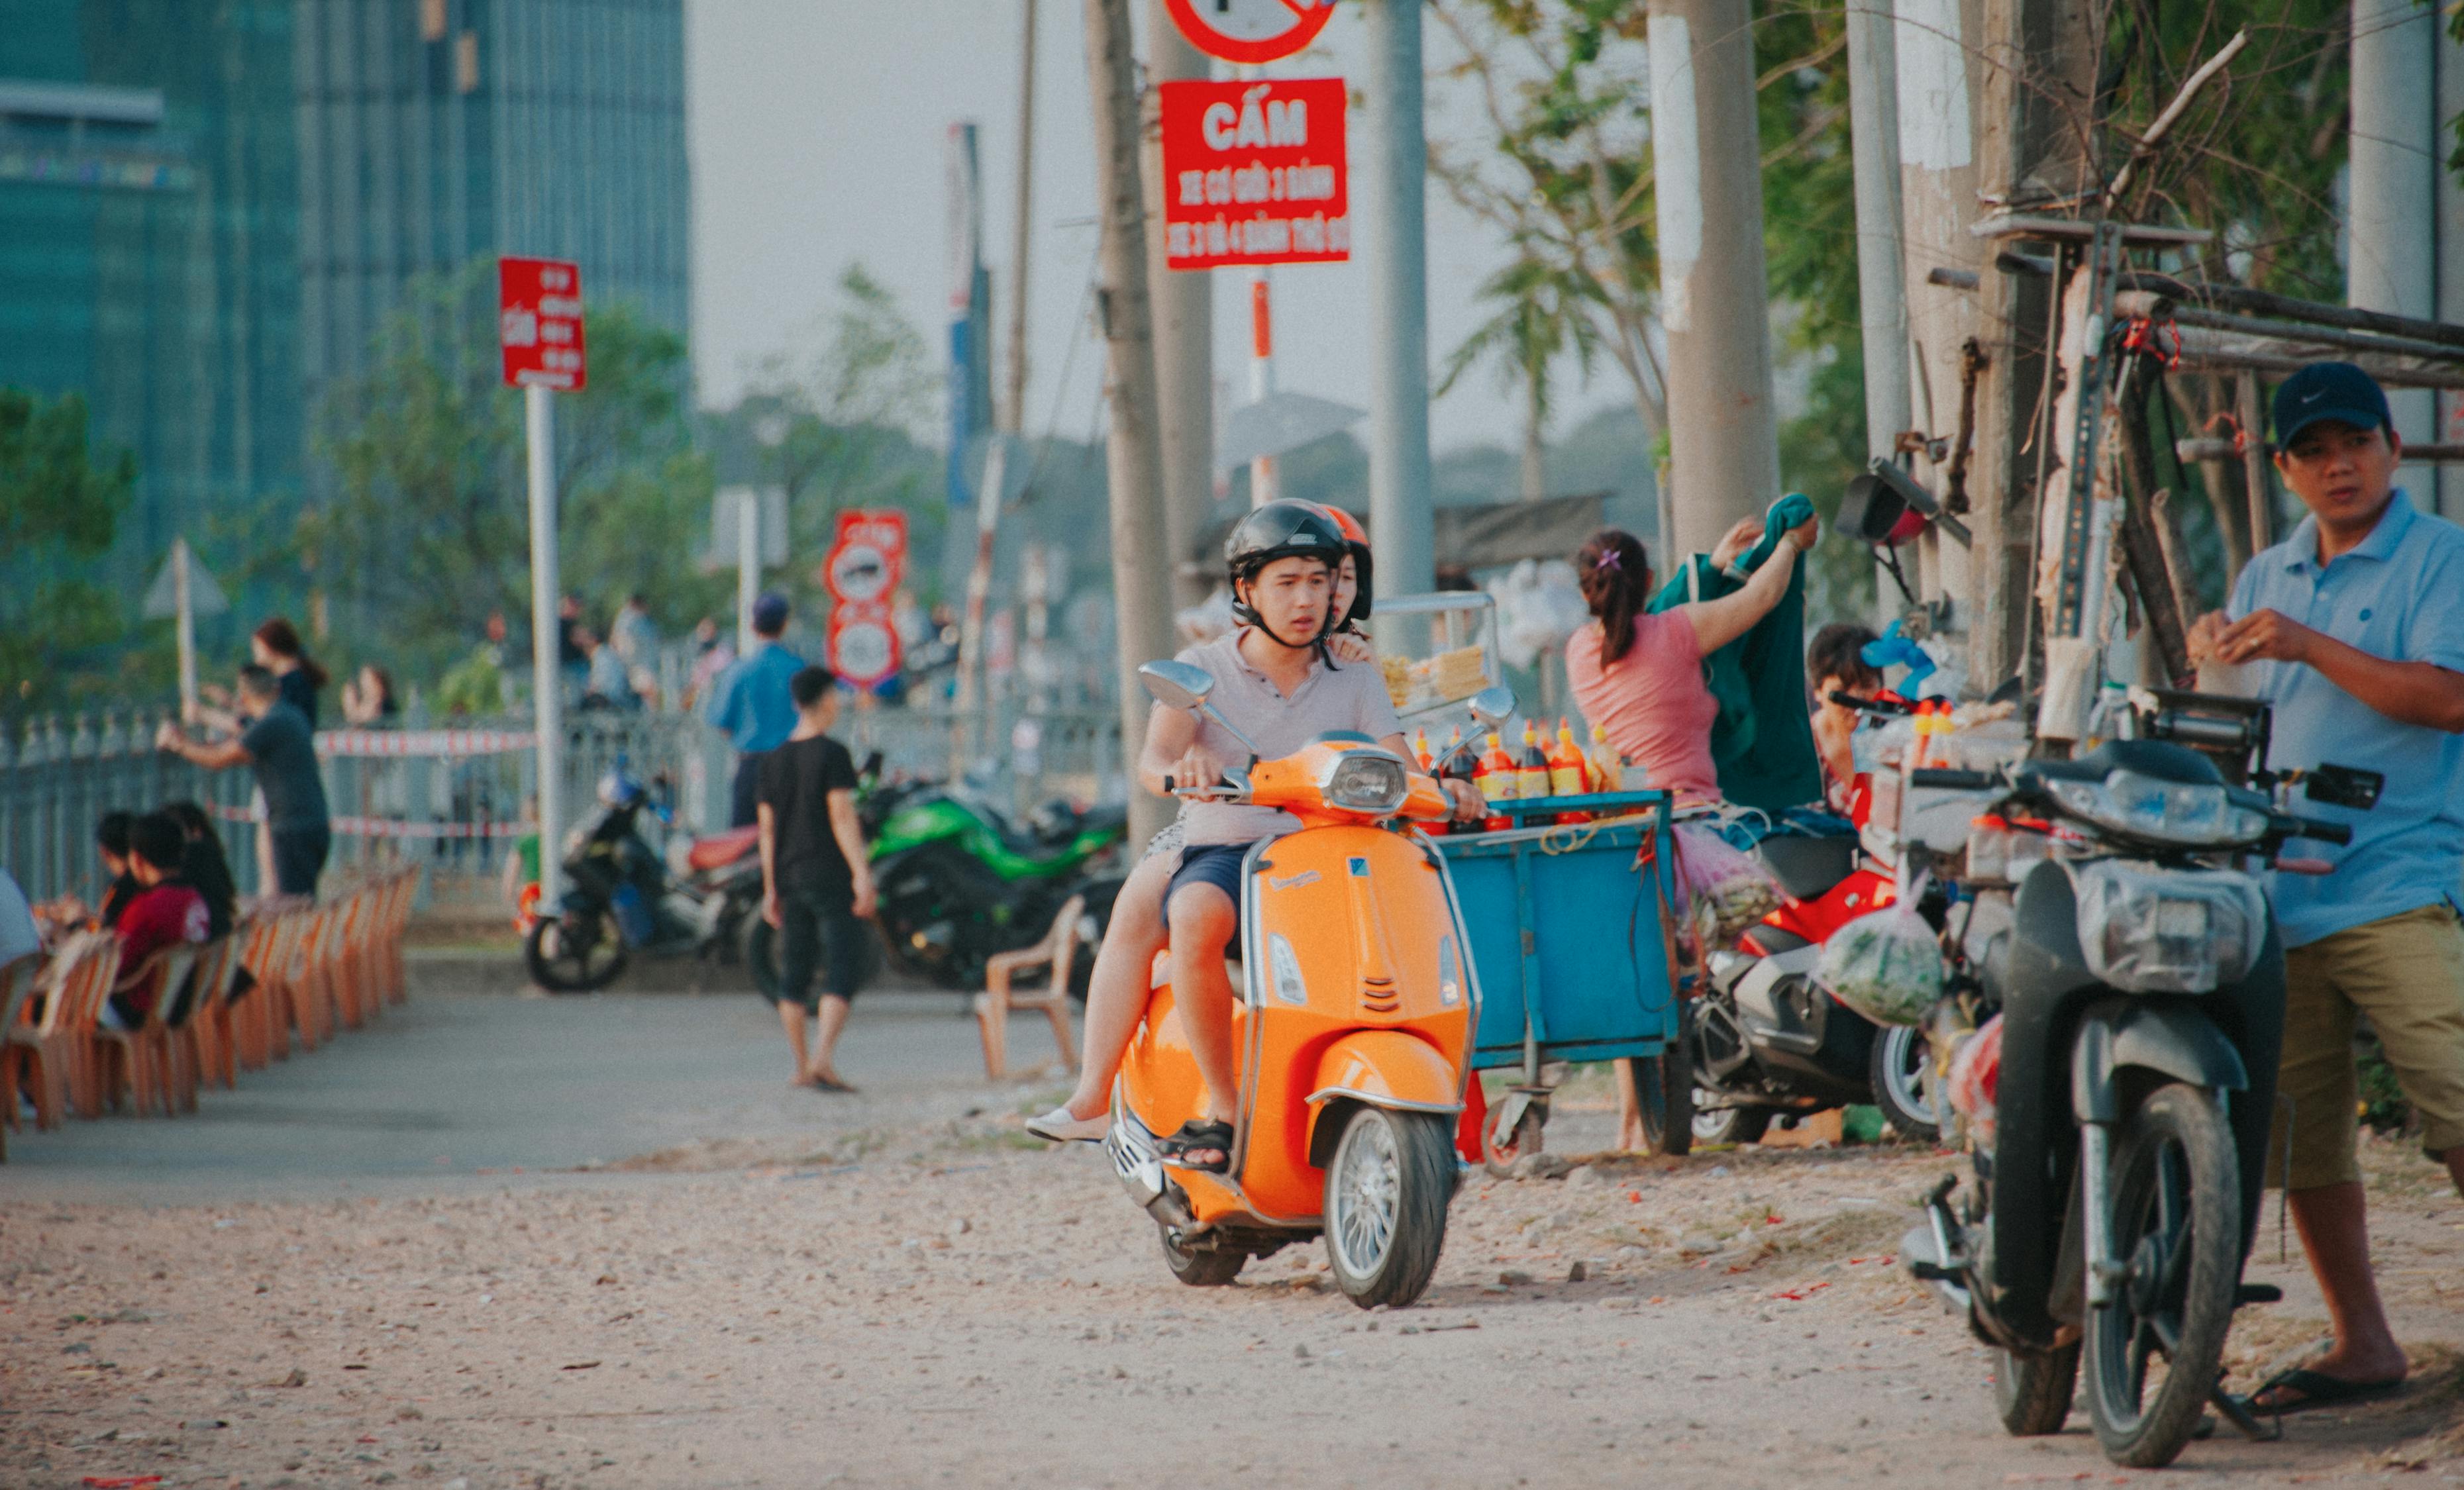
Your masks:
{"label": "front wheel of the orange Vespa scooter", "polygon": [[1446,1246],[1454,1126],[1439,1113],[1358,1106],[1326,1165],[1326,1258],[1360,1308],[1422,1295]]}

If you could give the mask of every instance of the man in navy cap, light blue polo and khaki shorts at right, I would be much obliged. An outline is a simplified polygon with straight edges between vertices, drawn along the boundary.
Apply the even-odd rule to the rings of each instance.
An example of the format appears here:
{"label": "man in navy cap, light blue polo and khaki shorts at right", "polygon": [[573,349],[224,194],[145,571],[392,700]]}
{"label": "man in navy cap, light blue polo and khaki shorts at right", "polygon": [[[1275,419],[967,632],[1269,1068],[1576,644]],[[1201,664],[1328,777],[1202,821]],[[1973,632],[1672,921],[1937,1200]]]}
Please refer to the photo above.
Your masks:
{"label": "man in navy cap, light blue polo and khaki shorts at right", "polygon": [[[2277,874],[2284,1064],[2267,1177],[2284,1180],[2336,1340],[2255,1394],[2299,1411],[2395,1391],[2405,1352],[2370,1276],[2353,1162],[2353,1025],[2368,1015],[2422,1150],[2464,1190],[2464,527],[2393,485],[2402,441],[2388,397],[2351,362],[2314,362],[2277,389],[2277,473],[2309,517],[2205,616],[2190,650],[2255,665],[2274,704],[2277,766],[2385,771],[2324,877]],[[2287,1158],[2289,1155],[2289,1158]]]}

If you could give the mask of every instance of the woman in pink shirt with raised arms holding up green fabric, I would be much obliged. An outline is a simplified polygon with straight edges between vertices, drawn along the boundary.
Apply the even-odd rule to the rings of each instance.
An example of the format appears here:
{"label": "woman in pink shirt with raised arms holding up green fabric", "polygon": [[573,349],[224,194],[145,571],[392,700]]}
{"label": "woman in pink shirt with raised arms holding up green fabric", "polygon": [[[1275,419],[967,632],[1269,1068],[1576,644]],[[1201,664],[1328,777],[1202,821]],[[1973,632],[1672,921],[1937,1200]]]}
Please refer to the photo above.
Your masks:
{"label": "woman in pink shirt with raised arms holding up green fabric", "polygon": [[[1759,537],[1759,517],[1737,522],[1712,549],[1712,564],[1725,569]],[[1789,594],[1796,557],[1814,547],[1814,522],[1791,527],[1784,542],[1794,547],[1774,552],[1745,589],[1658,616],[1643,611],[1653,589],[1643,539],[1604,527],[1574,554],[1592,608],[1592,626],[1565,643],[1574,702],[1584,719],[1609,731],[1609,746],[1641,766],[1651,788],[1673,791],[1680,808],[1720,800],[1720,771],[1710,759],[1720,704],[1703,682],[1703,658],[1752,630]]]}

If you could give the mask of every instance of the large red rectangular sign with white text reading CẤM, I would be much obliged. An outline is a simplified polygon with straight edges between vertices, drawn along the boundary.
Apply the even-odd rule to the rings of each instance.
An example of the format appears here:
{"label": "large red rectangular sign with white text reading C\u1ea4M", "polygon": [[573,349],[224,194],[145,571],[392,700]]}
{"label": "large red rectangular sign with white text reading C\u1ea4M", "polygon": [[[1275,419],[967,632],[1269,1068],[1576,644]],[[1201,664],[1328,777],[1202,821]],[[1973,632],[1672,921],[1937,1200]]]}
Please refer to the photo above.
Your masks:
{"label": "large red rectangular sign with white text reading C\u1ea4M", "polygon": [[1163,264],[1353,256],[1343,79],[1175,81],[1163,91]]}

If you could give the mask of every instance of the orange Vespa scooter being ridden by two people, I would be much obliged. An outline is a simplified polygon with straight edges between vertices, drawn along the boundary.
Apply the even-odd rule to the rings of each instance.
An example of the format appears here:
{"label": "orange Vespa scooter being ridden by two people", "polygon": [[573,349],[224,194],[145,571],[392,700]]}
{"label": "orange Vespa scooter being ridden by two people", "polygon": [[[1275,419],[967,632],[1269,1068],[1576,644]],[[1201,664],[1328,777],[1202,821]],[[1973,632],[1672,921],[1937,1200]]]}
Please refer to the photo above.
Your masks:
{"label": "orange Vespa scooter being ridden by two people", "polygon": [[[1148,662],[1138,677],[1165,707],[1232,729],[1205,702],[1215,680],[1202,667]],[[1510,712],[1508,690],[1473,699],[1481,719]],[[1301,820],[1242,860],[1242,931],[1227,948],[1239,1052],[1232,1162],[1210,1175],[1156,1155],[1156,1135],[1178,1130],[1205,1096],[1168,948],[1121,1061],[1104,1150],[1156,1217],[1183,1283],[1230,1283],[1252,1256],[1323,1231],[1353,1303],[1404,1305],[1429,1286],[1446,1241],[1481,1000],[1446,862],[1412,828],[1444,818],[1446,793],[1365,734],[1328,731],[1281,761],[1252,749],[1247,771],[1183,783],[1178,795]]]}

